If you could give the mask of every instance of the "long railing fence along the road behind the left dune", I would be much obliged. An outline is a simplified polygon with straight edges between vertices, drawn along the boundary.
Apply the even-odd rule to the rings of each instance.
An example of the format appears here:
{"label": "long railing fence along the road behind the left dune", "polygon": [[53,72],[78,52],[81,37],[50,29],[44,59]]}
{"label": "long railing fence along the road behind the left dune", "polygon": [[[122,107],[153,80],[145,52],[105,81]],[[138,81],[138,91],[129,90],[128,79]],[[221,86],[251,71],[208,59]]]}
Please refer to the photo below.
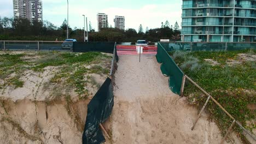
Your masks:
{"label": "long railing fence along the road behind the left dune", "polygon": [[0,40],[0,50],[72,51],[72,41]]}

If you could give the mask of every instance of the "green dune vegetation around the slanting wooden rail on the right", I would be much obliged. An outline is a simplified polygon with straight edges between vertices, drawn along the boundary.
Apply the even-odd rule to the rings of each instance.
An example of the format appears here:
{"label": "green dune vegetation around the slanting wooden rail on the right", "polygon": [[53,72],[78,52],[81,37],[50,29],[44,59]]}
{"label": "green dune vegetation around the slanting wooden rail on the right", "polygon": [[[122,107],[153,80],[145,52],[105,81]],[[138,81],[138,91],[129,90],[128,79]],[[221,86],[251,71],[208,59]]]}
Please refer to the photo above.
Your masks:
{"label": "green dune vegetation around the slanting wooden rail on the right", "polygon": [[[256,128],[255,123],[247,122],[255,119],[255,110],[250,107],[250,105],[256,105],[255,58],[254,61],[246,61],[240,53],[246,53],[247,57],[251,57],[255,55],[255,52],[255,50],[176,51],[170,52],[170,55],[186,75],[209,92],[237,121],[252,130]],[[211,61],[208,62],[205,59],[211,59]],[[188,97],[190,104],[195,104],[200,109],[207,99],[206,95],[188,81],[185,84],[184,95]],[[231,124],[231,119],[213,101],[210,100],[207,107],[212,118],[225,134]],[[241,129],[235,127],[235,130],[242,140],[248,143]]]}

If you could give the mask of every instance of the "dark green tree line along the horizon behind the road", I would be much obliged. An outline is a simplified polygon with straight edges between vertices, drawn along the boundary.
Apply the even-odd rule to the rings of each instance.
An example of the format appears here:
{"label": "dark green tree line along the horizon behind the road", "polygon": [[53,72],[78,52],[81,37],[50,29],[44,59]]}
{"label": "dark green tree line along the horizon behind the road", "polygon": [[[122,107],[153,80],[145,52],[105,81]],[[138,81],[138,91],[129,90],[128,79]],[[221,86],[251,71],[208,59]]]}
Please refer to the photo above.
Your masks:
{"label": "dark green tree line along the horizon behind the road", "polygon": [[[89,22],[90,23],[90,22]],[[174,23],[173,23],[174,24]],[[63,41],[66,39],[67,27],[69,31],[69,37],[77,39],[78,41],[84,41],[84,30],[75,26],[73,29],[67,25],[67,20],[64,20],[61,26],[55,26],[49,21],[33,21],[30,22],[27,19],[13,19],[11,17],[0,16],[0,40],[47,40]],[[92,26],[89,26],[89,41],[118,41],[126,42],[131,41],[133,43],[138,39],[147,39],[148,41],[159,41],[159,39],[181,39],[181,31],[178,23],[174,24],[174,27],[168,21],[159,23],[159,28],[146,28],[146,32],[143,31],[142,25],[138,29],[129,28],[127,30],[121,30],[118,28],[102,28],[100,32],[95,32]]]}

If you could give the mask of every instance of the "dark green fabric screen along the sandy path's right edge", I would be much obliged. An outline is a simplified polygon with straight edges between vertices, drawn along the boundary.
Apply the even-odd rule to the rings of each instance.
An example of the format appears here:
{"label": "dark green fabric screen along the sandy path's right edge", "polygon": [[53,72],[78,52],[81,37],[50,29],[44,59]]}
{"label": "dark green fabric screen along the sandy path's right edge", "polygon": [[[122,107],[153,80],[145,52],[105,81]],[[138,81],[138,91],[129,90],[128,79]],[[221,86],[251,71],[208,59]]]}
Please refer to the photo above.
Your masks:
{"label": "dark green fabric screen along the sandy path's right edge", "polygon": [[162,74],[169,76],[168,83],[172,92],[181,94],[181,85],[184,74],[160,43],[158,43],[158,53],[156,54],[156,59],[159,63],[162,63]]}

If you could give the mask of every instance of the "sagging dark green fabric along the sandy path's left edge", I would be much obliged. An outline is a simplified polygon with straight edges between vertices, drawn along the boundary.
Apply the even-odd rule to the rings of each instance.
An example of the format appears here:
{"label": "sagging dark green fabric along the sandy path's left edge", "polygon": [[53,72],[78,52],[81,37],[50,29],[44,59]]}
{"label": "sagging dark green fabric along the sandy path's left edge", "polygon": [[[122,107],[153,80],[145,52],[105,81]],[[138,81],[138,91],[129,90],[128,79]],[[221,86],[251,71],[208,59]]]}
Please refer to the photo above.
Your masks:
{"label": "sagging dark green fabric along the sandy path's left edge", "polygon": [[97,144],[106,141],[99,125],[110,116],[113,105],[113,84],[112,80],[107,78],[88,104],[83,144]]}

